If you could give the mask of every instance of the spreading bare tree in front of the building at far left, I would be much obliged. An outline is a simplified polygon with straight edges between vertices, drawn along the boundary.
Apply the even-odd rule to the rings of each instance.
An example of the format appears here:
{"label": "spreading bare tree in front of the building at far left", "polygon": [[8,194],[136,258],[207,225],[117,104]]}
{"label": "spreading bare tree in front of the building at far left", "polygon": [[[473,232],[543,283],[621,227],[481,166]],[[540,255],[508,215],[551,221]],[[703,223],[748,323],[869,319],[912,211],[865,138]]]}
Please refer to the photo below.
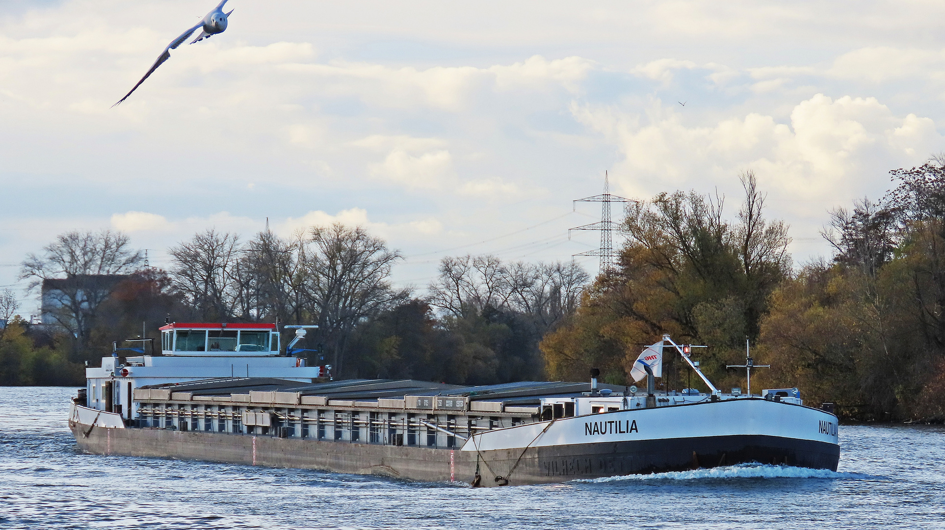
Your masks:
{"label": "spreading bare tree in front of the building at far left", "polygon": [[41,254],[28,254],[20,278],[31,281],[30,289],[45,285],[44,315],[73,333],[84,348],[98,306],[142,260],[142,252],[129,248],[129,237],[121,231],[70,231]]}

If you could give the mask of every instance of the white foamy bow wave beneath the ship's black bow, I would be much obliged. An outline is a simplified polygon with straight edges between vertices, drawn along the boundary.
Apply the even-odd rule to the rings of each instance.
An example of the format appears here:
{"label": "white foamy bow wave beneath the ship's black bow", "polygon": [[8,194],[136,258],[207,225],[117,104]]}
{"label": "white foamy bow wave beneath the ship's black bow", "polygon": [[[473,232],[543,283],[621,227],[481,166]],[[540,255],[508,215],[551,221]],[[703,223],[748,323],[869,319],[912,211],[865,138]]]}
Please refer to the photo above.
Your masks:
{"label": "white foamy bow wave beneath the ship's black bow", "polygon": [[874,475],[849,471],[811,470],[791,466],[773,466],[769,464],[738,464],[708,470],[668,471],[648,475],[621,475],[594,479],[578,479],[575,482],[616,482],[624,480],[698,480],[707,478],[831,478],[841,480],[879,479]]}

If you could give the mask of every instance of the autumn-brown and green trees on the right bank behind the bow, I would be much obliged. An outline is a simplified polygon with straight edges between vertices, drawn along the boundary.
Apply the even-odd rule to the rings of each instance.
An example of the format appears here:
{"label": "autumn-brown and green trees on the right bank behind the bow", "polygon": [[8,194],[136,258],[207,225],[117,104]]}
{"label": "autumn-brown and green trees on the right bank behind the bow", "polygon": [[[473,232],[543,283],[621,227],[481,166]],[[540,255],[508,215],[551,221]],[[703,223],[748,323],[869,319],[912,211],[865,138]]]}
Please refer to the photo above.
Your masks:
{"label": "autumn-brown and green trees on the right bank behind the bow", "polygon": [[[765,219],[751,172],[727,220],[724,197],[665,193],[634,204],[617,270],[598,277],[575,314],[541,342],[552,378],[627,374],[669,333],[695,350],[720,388],[744,387],[747,348],[759,387],[803,390],[846,419],[945,419],[945,166],[890,172],[879,199],[829,213],[831,258],[792,266],[781,221]],[[679,359],[662,385],[705,388]]]}

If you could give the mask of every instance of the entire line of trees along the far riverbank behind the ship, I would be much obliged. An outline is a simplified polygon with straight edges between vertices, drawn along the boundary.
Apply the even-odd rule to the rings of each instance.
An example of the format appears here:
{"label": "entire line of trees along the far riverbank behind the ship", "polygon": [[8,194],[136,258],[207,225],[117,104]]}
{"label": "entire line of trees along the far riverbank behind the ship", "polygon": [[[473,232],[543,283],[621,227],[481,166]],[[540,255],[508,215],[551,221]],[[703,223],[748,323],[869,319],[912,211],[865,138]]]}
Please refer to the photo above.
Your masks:
{"label": "entire line of trees along the far riverbank behind the ship", "polygon": [[[756,364],[771,365],[753,372],[756,392],[799,386],[809,404],[834,402],[846,419],[941,420],[940,162],[893,170],[883,197],[830,211],[822,236],[832,255],[799,266],[788,227],[765,216],[750,171],[731,214],[726,197],[696,192],[631,203],[618,264],[593,282],[574,263],[466,255],[443,258],[422,291],[396,288],[391,272],[403,256],[342,225],[289,237],[266,230],[246,242],[204,231],[170,249],[167,270],[142,266],[120,232],[70,232],[27,256],[22,276],[35,285],[121,280],[100,299],[76,299],[88,286],[62,283],[53,315],[62,333],[14,318],[0,336],[0,383],[64,381],[113,340],[140,334],[142,322],[156,336],[165,316],[316,323],[310,344],[338,377],[468,385],[583,381],[592,367],[607,383],[630,385],[640,350],[669,333],[708,346],[694,355],[720,388],[744,386],[744,370],[726,367],[744,364],[749,348]],[[68,369],[52,368],[62,360]],[[664,388],[701,385],[679,359],[665,361]]]}

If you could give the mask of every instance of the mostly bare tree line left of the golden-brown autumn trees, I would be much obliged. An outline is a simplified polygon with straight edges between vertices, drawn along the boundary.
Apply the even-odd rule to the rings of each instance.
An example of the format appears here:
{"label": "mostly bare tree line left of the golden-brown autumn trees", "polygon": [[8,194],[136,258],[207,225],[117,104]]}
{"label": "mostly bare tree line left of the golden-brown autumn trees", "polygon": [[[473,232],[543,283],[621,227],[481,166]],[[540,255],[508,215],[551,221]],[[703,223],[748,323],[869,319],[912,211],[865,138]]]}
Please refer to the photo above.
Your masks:
{"label": "mostly bare tree line left of the golden-brown autumn trees", "polygon": [[[403,256],[341,224],[289,237],[266,230],[245,242],[211,229],[168,252],[163,270],[146,266],[119,231],[61,234],[29,254],[21,271],[32,289],[43,289],[44,318],[54,324],[16,320],[4,336],[31,337],[30,355],[47,365],[55,352],[74,374],[71,384],[81,384],[80,368],[109,354],[113,342],[158,338],[165,319],[318,324],[306,339],[317,350],[307,360],[332,365],[336,377],[503,383],[544,377],[538,343],[575,310],[590,281],[571,263],[467,255],[444,258],[424,292],[395,288],[391,273]],[[9,369],[0,384],[53,381],[3,351],[0,364]]]}

